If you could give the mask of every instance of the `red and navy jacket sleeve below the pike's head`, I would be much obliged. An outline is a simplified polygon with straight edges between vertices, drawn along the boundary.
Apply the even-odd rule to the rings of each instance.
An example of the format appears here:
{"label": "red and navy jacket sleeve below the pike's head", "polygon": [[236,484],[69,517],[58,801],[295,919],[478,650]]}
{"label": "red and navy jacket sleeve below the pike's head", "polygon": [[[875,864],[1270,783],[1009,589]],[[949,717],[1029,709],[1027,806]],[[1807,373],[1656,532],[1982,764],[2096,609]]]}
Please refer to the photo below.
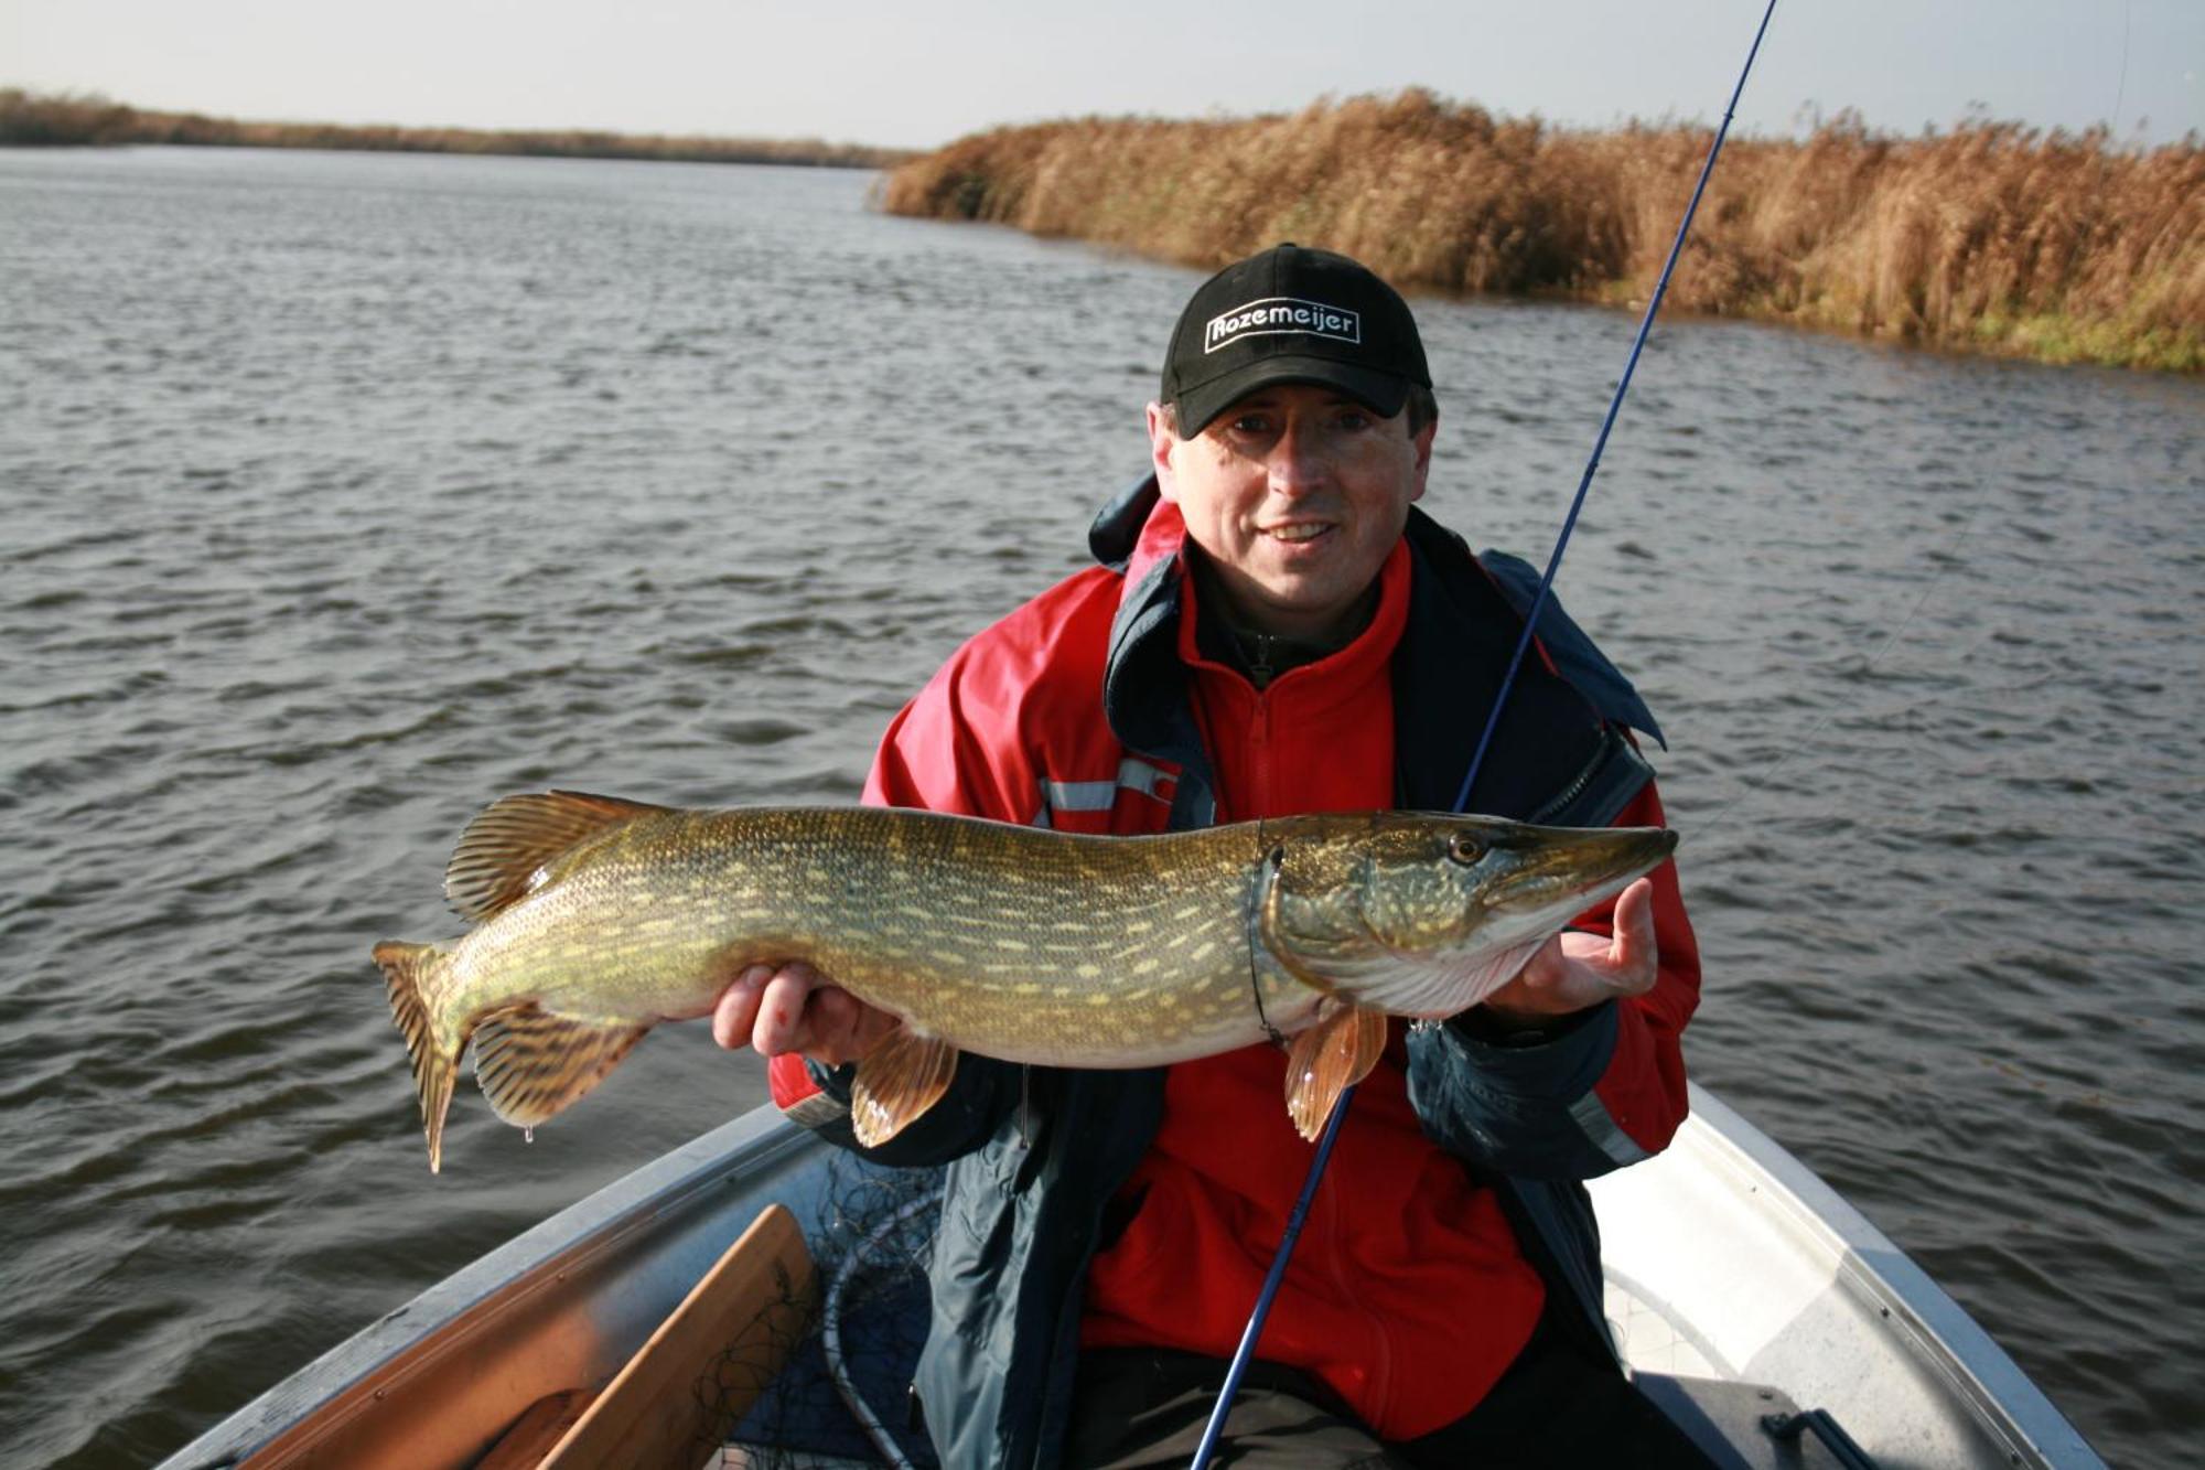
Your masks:
{"label": "red and navy jacket sleeve below the pike's head", "polygon": [[[1616,825],[1665,825],[1654,784]],[[1700,945],[1685,916],[1676,861],[1656,867],[1654,989],[1610,1000],[1510,1044],[1466,1011],[1409,1033],[1409,1101],[1442,1148],[1521,1179],[1592,1179],[1669,1146],[1685,1121],[1680,1035],[1700,1004]],[[1614,903],[1572,927],[1612,931]]]}

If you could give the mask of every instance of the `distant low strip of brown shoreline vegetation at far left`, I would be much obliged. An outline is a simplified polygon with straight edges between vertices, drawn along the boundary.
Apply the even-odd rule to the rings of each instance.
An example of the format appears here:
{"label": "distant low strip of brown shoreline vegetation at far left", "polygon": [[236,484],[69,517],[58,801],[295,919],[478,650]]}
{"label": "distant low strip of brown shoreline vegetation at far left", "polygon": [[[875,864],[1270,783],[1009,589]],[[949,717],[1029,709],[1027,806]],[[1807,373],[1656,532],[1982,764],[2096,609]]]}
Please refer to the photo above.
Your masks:
{"label": "distant low strip of brown shoreline vegetation at far left", "polygon": [[631,132],[397,128],[306,121],[243,121],[203,113],[148,113],[106,97],[0,88],[0,146],[185,143],[196,148],[340,148],[353,152],[472,152],[534,159],[655,159],[668,163],[792,163],[891,168],[908,148],[820,139],[664,137]]}

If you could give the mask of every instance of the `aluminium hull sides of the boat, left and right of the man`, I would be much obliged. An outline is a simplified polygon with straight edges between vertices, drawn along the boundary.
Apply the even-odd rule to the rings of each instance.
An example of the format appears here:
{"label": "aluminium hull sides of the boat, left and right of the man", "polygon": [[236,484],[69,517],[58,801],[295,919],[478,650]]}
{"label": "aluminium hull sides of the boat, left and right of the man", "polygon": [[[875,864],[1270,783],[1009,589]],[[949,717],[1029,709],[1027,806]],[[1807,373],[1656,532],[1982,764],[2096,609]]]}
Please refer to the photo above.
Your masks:
{"label": "aluminium hull sides of the boat, left and right of the man", "polygon": [[[163,1468],[467,1466],[538,1397],[606,1382],[761,1207],[818,1218],[829,1152],[772,1106],[714,1128],[430,1287]],[[1790,1448],[1735,1402],[1724,1417],[1727,1393],[1824,1408],[1887,1470],[2104,1463],[1890,1238],[1704,1088],[1663,1154],[1592,1196],[1625,1362],[1656,1399],[1711,1408],[1733,1463]]]}

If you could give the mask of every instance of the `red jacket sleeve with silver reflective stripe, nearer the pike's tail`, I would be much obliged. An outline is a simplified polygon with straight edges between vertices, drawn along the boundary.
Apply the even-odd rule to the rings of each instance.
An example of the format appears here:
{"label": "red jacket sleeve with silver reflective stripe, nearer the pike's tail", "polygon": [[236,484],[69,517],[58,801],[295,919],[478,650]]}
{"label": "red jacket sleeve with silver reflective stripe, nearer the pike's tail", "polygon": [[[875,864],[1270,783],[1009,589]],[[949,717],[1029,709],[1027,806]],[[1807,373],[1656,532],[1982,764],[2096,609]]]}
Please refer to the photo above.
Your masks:
{"label": "red jacket sleeve with silver reflective stripe, nearer the pike's tail", "polygon": [[[906,704],[873,753],[867,806],[911,806],[994,821],[1032,821],[1039,779],[1017,739],[1017,711],[988,697],[972,678],[975,645],[959,649]],[[1019,810],[1019,803],[1030,803]],[[829,976],[831,978],[831,976]],[[860,1148],[849,1128],[856,1066],[822,1066],[798,1055],[767,1064],[774,1104],[829,1143],[878,1163],[946,1163],[986,1143],[1025,1093],[1023,1068],[959,1053],[942,1101],[880,1148]]]}

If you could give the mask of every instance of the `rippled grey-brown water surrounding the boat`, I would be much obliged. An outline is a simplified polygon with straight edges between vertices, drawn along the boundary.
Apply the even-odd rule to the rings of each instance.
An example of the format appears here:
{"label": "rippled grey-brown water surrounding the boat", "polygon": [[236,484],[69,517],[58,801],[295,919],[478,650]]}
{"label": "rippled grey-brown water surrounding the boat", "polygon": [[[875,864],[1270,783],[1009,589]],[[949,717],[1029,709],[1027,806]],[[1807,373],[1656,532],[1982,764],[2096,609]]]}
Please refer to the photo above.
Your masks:
{"label": "rippled grey-brown water surrounding the boat", "polygon": [[[379,938],[507,790],[845,801],[1078,565],[1188,271],[838,172],[0,152],[0,1426],[154,1459],[763,1099],[653,1035],[430,1176]],[[1614,313],[1418,305],[1427,505],[1544,558]],[[2205,386],[1685,322],[1563,598],[1641,682],[1696,1075],[2115,1463],[2205,1346]]]}

